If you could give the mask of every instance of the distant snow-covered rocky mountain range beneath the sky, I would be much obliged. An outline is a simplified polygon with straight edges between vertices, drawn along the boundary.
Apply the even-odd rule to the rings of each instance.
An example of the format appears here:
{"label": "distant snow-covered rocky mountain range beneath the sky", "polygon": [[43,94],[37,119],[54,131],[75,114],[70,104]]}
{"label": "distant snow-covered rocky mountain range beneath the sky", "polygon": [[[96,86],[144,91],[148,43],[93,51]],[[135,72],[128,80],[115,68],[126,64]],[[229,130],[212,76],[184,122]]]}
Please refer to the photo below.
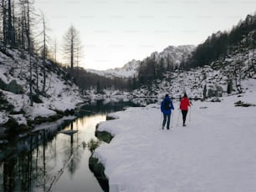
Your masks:
{"label": "distant snow-covered rocky mountain range beneath the sky", "polygon": [[[196,47],[193,45],[181,45],[177,47],[169,46],[160,53],[151,53],[151,56],[149,56],[148,58],[153,58],[156,63],[160,63],[162,61],[164,65],[170,63],[174,66],[178,66],[181,63],[182,59],[187,58],[195,48]],[[144,60],[146,60],[146,58],[142,61],[133,59],[131,60],[131,62],[126,63],[122,68],[110,68],[103,71],[86,69],[86,71],[109,78],[133,78],[138,74],[138,70]]]}

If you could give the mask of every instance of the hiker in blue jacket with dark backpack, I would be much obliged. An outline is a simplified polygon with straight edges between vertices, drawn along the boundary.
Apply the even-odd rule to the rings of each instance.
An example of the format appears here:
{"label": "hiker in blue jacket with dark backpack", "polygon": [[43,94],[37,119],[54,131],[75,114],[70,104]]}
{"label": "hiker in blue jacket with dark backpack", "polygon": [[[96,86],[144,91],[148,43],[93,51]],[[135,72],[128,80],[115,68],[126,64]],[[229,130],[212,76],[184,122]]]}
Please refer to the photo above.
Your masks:
{"label": "hiker in blue jacket with dark backpack", "polygon": [[161,113],[163,114],[161,129],[164,129],[166,125],[166,120],[167,120],[166,129],[170,129],[170,119],[171,119],[172,110],[174,110],[172,99],[170,99],[169,95],[166,94],[165,99],[163,99],[161,102]]}

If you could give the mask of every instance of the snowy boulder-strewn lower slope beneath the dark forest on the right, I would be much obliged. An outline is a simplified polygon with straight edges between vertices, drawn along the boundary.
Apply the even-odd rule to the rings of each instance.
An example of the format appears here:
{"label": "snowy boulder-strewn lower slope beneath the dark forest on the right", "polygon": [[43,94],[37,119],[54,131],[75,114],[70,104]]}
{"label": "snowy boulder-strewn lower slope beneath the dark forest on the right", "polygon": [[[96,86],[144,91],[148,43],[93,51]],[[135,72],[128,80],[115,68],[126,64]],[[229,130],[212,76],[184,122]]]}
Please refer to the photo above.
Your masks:
{"label": "snowy boulder-strewn lower slope beneath the dark forest on the right", "polygon": [[169,93],[172,97],[179,98],[186,91],[190,98],[203,99],[226,95],[228,87],[232,89],[231,93],[244,92],[256,86],[250,83],[250,79],[256,78],[256,66],[251,60],[255,54],[254,49],[249,49],[228,55],[202,68],[168,72],[165,78],[141,86],[132,94],[134,97],[161,98]]}

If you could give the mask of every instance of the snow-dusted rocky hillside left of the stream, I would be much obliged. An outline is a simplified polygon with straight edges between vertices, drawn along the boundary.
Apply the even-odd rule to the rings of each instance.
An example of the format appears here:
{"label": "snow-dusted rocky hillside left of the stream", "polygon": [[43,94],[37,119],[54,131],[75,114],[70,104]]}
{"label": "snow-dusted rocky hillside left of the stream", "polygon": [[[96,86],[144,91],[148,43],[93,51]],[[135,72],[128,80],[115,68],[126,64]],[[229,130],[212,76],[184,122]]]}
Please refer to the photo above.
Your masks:
{"label": "snow-dusted rocky hillside left of the stream", "polygon": [[[46,83],[43,90],[43,60],[33,55],[32,91],[33,106],[29,99],[29,55],[23,50],[1,49],[0,51],[0,132],[3,127],[16,121],[28,125],[39,119],[58,118],[69,114],[77,104],[82,102],[79,88],[63,69],[51,61],[45,64]],[[16,123],[15,123],[16,124]],[[32,125],[32,124],[29,124]],[[22,127],[22,126],[21,126]]]}

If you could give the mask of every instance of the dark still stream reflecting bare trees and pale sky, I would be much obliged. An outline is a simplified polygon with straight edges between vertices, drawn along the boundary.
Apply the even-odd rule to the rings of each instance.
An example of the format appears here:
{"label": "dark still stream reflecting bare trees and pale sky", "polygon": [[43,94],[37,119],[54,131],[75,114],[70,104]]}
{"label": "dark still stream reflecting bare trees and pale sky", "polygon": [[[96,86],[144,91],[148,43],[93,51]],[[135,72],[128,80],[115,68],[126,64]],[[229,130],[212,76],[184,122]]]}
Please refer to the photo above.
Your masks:
{"label": "dark still stream reflecting bare trees and pale sky", "polygon": [[[0,191],[102,191],[89,169],[95,126],[106,114],[136,106],[131,102],[104,102],[81,108],[79,118],[65,125],[49,124],[0,149]],[[62,130],[77,133],[63,134]]]}

